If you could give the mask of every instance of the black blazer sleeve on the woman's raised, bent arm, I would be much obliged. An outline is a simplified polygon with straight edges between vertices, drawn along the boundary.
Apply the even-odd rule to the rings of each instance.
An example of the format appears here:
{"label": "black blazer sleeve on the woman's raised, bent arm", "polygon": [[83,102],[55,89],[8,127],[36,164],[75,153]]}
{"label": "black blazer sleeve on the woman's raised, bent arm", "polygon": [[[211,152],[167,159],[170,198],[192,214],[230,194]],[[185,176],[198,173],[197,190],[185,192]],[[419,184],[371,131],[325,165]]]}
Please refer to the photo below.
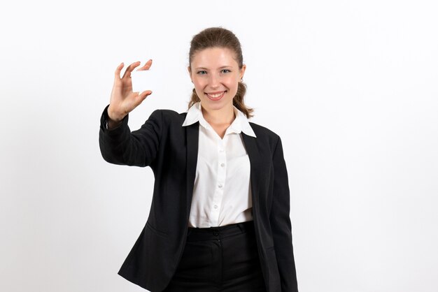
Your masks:
{"label": "black blazer sleeve on the woman's raised, bent arm", "polygon": [[131,132],[126,116],[115,129],[106,129],[108,106],[101,115],[99,147],[109,163],[127,166],[150,166],[160,146],[162,112],[155,110],[141,129]]}

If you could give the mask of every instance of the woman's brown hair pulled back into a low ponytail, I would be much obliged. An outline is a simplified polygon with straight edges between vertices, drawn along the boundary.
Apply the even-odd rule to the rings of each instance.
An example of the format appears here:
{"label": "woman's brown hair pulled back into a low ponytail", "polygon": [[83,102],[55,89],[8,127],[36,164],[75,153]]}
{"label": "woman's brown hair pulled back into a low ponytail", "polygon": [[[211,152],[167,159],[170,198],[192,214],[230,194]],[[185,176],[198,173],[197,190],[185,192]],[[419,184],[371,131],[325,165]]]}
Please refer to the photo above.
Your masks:
{"label": "woman's brown hair pulled back into a low ponytail", "polygon": [[[227,48],[232,50],[236,54],[235,59],[237,64],[239,64],[239,69],[243,67],[241,45],[239,39],[232,33],[232,31],[222,29],[222,27],[210,27],[194,36],[190,42],[189,66],[192,64],[192,59],[195,57],[195,54],[207,48]],[[250,118],[253,117],[252,112],[254,110],[245,105],[245,102],[243,101],[243,96],[245,96],[245,94],[246,84],[240,81],[237,87],[236,96],[233,98],[233,105],[243,112],[246,117]],[[199,96],[197,96],[195,89],[193,89],[188,107],[190,108],[198,101],[200,101]]]}

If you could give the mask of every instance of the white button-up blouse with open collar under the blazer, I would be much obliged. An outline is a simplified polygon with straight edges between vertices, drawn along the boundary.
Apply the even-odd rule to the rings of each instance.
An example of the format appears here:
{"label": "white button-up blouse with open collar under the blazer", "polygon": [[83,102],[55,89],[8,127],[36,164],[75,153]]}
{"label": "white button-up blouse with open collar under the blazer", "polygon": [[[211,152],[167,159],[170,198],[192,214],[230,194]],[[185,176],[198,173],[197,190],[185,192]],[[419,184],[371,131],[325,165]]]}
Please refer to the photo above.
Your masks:
{"label": "white button-up blouse with open collar under the blazer", "polygon": [[209,228],[253,220],[250,161],[241,132],[255,137],[243,113],[234,107],[235,119],[223,139],[206,122],[201,103],[188,110],[183,126],[199,122],[199,146],[190,227]]}

